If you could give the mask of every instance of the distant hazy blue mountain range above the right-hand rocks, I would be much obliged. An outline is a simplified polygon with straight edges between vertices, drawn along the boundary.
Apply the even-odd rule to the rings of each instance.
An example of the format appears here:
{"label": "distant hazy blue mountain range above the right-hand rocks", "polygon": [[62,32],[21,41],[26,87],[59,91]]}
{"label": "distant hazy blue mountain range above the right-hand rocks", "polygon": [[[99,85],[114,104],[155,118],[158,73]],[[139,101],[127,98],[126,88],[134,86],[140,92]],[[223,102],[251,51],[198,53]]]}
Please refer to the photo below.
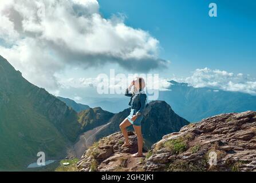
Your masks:
{"label": "distant hazy blue mountain range above the right-hand rocks", "polygon": [[256,96],[250,94],[195,88],[175,81],[170,83],[170,90],[160,92],[159,99],[166,101],[177,114],[191,122],[223,113],[256,110]]}

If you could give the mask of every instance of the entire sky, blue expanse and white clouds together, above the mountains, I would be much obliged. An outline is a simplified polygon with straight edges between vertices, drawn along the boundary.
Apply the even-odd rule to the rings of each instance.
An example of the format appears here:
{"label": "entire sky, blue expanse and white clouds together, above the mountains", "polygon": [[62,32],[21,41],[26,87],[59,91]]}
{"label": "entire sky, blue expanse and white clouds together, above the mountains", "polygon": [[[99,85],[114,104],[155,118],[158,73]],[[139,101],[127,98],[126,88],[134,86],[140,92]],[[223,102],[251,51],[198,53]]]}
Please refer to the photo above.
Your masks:
{"label": "entire sky, blue expanse and white clouds together, above the mountains", "polygon": [[[57,96],[99,96],[99,75],[111,69],[159,74],[163,88],[175,79],[256,94],[254,0],[37,2],[1,0],[0,54]],[[208,15],[212,2],[218,17]]]}

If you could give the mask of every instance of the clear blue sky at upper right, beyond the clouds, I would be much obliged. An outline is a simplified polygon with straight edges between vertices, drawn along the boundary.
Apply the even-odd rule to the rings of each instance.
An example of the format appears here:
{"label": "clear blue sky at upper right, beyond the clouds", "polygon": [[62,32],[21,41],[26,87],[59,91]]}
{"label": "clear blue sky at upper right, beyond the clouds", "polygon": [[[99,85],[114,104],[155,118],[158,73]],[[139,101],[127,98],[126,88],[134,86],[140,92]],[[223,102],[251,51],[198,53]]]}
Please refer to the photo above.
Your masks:
{"label": "clear blue sky at upper right, beyond the clouds", "polygon": [[[218,5],[218,17],[208,5]],[[256,1],[99,0],[104,17],[123,13],[128,26],[149,31],[160,41],[164,71],[187,76],[197,68],[227,70],[256,77]]]}

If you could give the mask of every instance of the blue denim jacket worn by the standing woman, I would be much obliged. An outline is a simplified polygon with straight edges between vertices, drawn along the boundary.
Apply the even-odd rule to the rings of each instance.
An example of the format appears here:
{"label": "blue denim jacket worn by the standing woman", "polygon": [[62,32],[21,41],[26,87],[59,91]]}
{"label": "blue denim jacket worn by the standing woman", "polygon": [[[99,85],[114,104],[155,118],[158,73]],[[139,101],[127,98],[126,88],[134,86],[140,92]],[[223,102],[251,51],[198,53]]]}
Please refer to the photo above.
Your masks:
{"label": "blue denim jacket worn by the standing woman", "polygon": [[128,90],[126,90],[125,96],[131,97],[131,100],[129,102],[129,106],[131,106],[131,109],[135,109],[136,113],[143,114],[146,105],[147,95],[143,91],[132,94],[128,93]]}

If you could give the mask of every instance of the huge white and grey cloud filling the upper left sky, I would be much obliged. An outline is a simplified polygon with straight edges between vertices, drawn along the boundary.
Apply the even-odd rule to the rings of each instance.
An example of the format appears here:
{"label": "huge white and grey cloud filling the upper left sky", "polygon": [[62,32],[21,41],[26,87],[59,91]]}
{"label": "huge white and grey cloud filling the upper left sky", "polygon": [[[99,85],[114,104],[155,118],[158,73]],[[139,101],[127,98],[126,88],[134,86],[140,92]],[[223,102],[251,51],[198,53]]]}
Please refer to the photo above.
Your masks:
{"label": "huge white and grey cloud filling the upper left sky", "polygon": [[158,58],[157,39],[125,25],[121,15],[102,17],[96,0],[1,0],[0,14],[0,54],[49,89],[65,66],[117,63],[148,71],[167,63]]}

